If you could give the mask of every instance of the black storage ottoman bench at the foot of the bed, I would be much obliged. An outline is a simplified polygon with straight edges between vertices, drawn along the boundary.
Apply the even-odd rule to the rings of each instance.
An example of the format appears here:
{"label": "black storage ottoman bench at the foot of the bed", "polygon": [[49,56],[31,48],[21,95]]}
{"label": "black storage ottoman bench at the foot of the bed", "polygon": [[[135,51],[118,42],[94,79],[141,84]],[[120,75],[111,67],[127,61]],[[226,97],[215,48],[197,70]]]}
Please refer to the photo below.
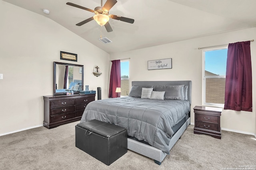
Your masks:
{"label": "black storage ottoman bench at the foot of the bed", "polygon": [[100,160],[112,164],[127,152],[127,130],[96,119],[75,126],[76,147]]}

